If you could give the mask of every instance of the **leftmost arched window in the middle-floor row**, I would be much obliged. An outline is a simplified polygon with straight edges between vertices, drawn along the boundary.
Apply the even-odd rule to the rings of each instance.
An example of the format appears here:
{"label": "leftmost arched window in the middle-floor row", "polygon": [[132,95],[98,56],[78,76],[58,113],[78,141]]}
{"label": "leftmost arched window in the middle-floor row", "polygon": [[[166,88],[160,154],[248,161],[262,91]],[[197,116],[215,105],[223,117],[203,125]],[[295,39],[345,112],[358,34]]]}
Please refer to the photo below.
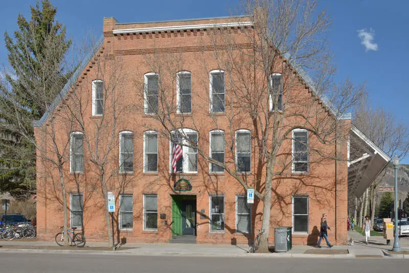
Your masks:
{"label": "leftmost arched window in the middle-floor row", "polygon": [[84,172],[84,135],[81,132],[70,134],[70,171]]}

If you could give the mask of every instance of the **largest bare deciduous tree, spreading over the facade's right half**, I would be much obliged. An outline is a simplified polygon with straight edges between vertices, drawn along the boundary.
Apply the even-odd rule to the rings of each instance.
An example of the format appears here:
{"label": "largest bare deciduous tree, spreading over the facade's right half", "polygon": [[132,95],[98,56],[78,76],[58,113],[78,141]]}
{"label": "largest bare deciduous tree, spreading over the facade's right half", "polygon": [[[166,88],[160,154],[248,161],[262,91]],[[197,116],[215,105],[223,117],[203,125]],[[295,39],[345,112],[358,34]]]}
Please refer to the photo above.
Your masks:
{"label": "largest bare deciduous tree, spreading over the facade's right half", "polygon": [[[325,38],[329,18],[316,8],[314,1],[243,1],[243,9],[248,14],[254,12],[252,26],[208,29],[207,36],[199,35],[203,51],[193,58],[201,67],[196,73],[201,75],[202,88],[192,88],[191,100],[199,101],[194,107],[210,115],[211,124],[203,124],[195,115],[179,115],[184,105],[177,94],[181,82],[176,75],[186,65],[188,57],[183,51],[155,50],[146,56],[145,64],[157,75],[157,89],[135,82],[151,118],[162,125],[164,137],[175,142],[172,134],[179,134],[180,144],[197,150],[210,165],[210,172],[212,168],[225,171],[244,190],[255,189],[257,203],[263,204],[261,227],[266,232],[261,238],[262,252],[268,251],[272,206],[282,208],[285,200],[303,187],[314,188],[321,199],[336,187],[333,183],[312,183],[308,168],[326,161],[346,161],[345,154],[325,147],[345,143],[349,128],[345,128],[343,120],[348,117],[344,114],[364,95],[362,86],[348,80],[339,85],[333,82]],[[201,132],[199,139],[180,128]],[[223,138],[223,160],[209,154],[209,128]],[[241,128],[252,128],[254,173],[245,156],[238,156],[248,152],[237,150],[241,147],[237,143]],[[308,136],[293,134],[300,129]],[[286,151],[291,142],[300,147],[295,157]],[[278,188],[294,169],[302,173],[300,182],[283,196]],[[217,187],[213,191],[217,192]]]}

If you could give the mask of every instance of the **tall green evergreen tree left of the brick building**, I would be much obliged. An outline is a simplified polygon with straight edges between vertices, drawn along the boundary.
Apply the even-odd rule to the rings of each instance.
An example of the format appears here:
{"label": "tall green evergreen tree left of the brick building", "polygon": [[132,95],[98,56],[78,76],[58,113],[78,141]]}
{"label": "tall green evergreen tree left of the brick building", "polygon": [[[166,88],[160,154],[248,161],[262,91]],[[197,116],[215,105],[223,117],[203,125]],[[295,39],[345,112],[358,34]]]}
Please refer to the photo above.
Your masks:
{"label": "tall green evergreen tree left of the brick building", "polygon": [[[20,127],[24,127],[28,135],[33,135],[31,121],[40,119],[46,111],[33,99],[38,98],[35,93],[42,92],[44,100],[55,98],[72,73],[61,68],[71,40],[65,38],[65,27],[55,20],[56,13],[49,0],[41,1],[41,5],[37,2],[31,6],[30,21],[19,14],[18,30],[13,37],[5,33],[11,73],[5,74],[0,83],[0,191],[9,191],[14,196],[35,193],[36,150],[20,134]],[[57,80],[44,77],[44,65],[52,73],[59,73]],[[44,88],[40,90],[38,86]],[[44,90],[50,90],[50,94]],[[24,117],[19,119],[20,124],[2,110],[10,109],[10,105],[17,107]]]}

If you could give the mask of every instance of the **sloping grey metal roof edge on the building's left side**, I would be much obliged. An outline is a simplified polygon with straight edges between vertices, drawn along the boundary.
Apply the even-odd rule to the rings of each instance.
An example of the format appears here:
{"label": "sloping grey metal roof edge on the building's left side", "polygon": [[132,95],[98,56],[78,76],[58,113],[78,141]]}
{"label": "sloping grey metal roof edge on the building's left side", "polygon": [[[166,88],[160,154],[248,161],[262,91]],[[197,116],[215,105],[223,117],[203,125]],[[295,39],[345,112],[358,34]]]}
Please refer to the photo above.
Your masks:
{"label": "sloping grey metal roof edge on the building's left side", "polygon": [[47,121],[48,113],[54,111],[54,109],[57,107],[57,105],[61,102],[62,98],[70,90],[71,86],[77,81],[79,75],[85,69],[88,62],[93,58],[95,53],[97,53],[98,49],[102,46],[103,42],[104,42],[104,36],[102,35],[98,39],[98,41],[95,43],[92,50],[90,50],[88,52],[88,54],[84,57],[84,59],[82,60],[80,66],[78,66],[78,68],[75,70],[74,74],[65,83],[62,90],[57,94],[54,102],[50,105],[49,109],[44,113],[44,115],[42,115],[41,119],[32,122],[33,127],[41,127],[42,125],[44,125],[44,123]]}

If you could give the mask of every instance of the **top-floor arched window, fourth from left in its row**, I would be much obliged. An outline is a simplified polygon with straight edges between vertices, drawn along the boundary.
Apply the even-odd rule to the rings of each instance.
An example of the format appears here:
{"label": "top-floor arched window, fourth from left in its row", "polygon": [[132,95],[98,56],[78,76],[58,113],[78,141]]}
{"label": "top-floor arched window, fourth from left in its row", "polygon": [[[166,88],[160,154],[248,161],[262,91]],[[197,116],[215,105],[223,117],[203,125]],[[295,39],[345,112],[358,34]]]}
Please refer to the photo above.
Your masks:
{"label": "top-floor arched window, fourth from left in its row", "polygon": [[210,72],[210,112],[224,112],[224,71]]}

